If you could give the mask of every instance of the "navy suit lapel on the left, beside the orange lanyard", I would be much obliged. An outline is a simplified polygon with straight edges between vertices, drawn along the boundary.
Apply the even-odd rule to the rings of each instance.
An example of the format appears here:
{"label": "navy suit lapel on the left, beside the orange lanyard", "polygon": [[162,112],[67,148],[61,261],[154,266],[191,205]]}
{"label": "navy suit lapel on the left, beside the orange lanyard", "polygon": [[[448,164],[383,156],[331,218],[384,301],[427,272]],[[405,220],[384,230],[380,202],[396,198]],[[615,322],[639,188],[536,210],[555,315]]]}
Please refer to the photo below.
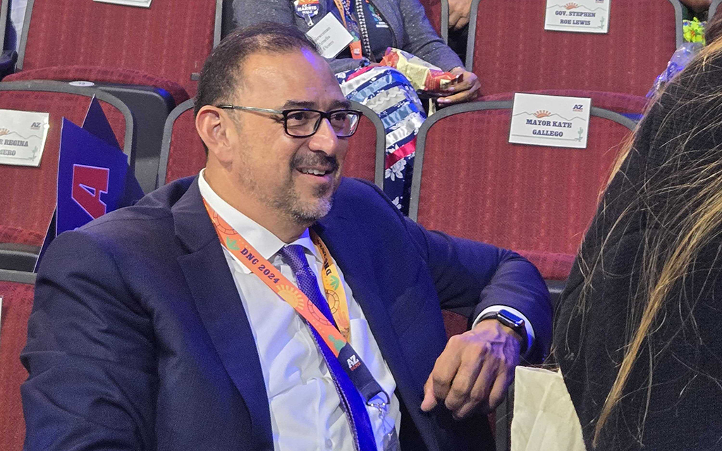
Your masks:
{"label": "navy suit lapel on the left, beside the orange lanyard", "polygon": [[178,258],[212,343],[243,396],[260,448],[273,448],[271,413],[251,324],[215,229],[206,213],[198,180],[173,206],[175,234],[189,253]]}

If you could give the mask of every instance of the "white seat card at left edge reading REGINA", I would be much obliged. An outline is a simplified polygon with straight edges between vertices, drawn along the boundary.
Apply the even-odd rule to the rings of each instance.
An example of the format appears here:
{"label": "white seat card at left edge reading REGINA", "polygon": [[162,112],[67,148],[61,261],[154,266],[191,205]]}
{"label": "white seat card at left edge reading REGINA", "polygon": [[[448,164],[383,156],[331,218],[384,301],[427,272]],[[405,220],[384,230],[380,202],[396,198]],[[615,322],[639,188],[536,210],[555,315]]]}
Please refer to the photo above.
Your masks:
{"label": "white seat card at left edge reading REGINA", "polygon": [[0,110],[0,165],[40,166],[48,128],[48,113]]}

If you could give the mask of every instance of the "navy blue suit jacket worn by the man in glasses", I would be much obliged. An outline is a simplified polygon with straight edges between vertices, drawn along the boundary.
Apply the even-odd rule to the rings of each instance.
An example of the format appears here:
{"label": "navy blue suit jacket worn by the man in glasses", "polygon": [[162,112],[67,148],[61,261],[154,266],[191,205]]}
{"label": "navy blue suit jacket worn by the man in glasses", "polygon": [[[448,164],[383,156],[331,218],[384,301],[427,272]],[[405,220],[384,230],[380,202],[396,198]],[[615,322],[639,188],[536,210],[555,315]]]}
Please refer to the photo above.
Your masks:
{"label": "navy blue suit jacket worn by the man in glasses", "polygon": [[[405,449],[491,449],[484,417],[423,413],[446,336],[441,308],[515,307],[549,346],[536,268],[427,232],[375,186],[344,179],[313,226],[362,307],[403,404]],[[272,450],[251,326],[187,178],[60,235],[43,259],[22,362],[27,450]]]}

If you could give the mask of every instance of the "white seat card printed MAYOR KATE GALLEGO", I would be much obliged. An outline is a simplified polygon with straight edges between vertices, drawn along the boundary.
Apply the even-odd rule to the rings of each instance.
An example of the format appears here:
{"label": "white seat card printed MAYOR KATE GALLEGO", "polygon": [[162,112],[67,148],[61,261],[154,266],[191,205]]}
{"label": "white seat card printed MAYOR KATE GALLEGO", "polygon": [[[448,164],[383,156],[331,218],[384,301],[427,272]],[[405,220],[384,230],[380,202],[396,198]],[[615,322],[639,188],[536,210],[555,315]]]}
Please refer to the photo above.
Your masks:
{"label": "white seat card printed MAYOR KATE GALLEGO", "polygon": [[509,142],[586,149],[591,99],[515,94]]}

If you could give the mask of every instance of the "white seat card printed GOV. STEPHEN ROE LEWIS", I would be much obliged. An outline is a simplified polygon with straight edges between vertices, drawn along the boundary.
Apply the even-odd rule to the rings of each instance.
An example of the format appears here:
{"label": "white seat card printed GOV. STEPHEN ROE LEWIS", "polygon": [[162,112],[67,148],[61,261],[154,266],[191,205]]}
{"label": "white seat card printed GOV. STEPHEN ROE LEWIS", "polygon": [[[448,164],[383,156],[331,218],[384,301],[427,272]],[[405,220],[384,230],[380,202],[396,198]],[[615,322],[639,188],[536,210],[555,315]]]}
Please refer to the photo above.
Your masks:
{"label": "white seat card printed GOV. STEPHEN ROE LEWIS", "polygon": [[612,0],[547,0],[544,30],[583,33],[609,32]]}

